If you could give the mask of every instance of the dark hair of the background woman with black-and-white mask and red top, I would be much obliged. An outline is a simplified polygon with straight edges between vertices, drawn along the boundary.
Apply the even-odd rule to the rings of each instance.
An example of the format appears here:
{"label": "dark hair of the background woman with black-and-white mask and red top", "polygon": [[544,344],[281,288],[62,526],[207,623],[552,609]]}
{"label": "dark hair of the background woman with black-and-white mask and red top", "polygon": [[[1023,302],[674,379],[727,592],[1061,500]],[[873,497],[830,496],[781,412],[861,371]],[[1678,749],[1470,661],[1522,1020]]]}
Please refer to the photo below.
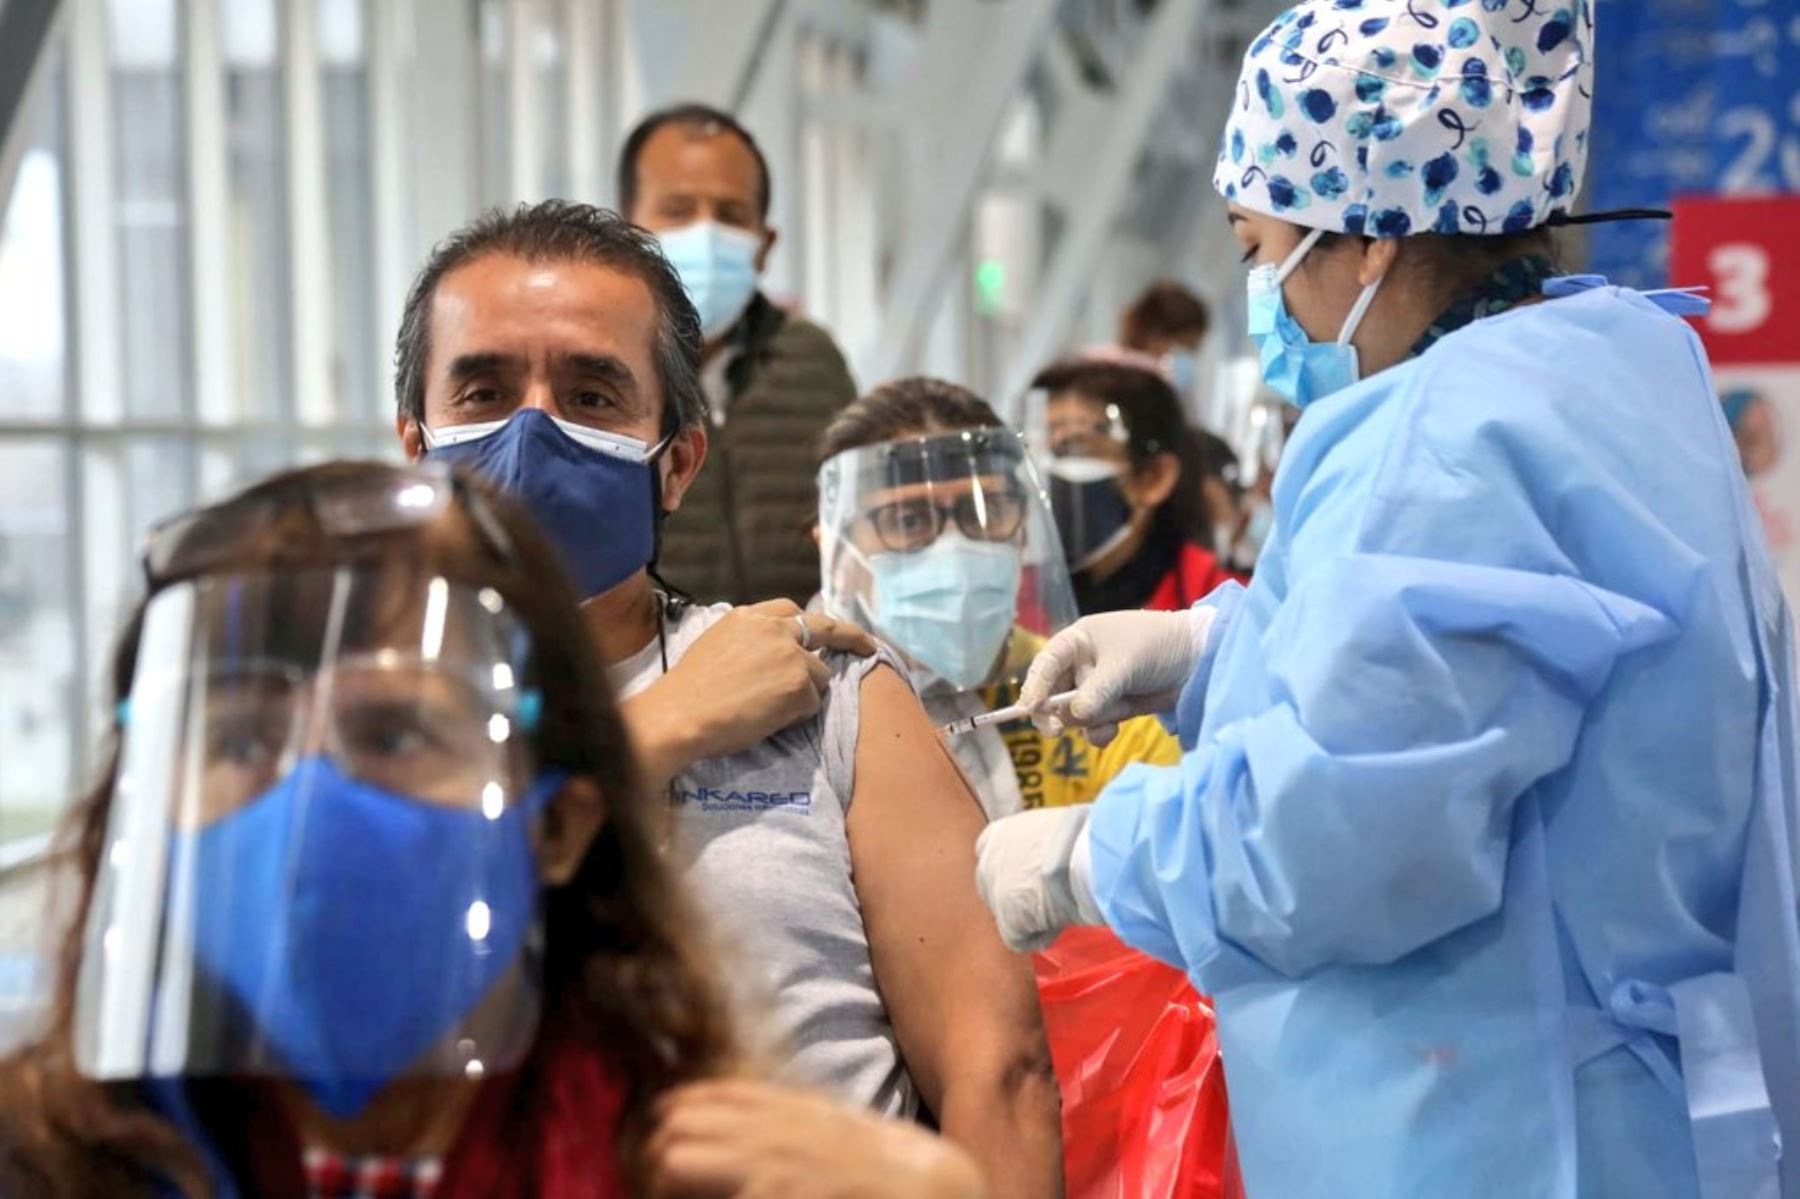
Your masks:
{"label": "dark hair of the background woman with black-and-white mask and red top", "polygon": [[1125,362],[1067,358],[1039,371],[1031,387],[1051,396],[1069,392],[1118,407],[1132,470],[1143,470],[1157,454],[1174,454],[1181,477],[1156,509],[1150,535],[1195,545],[1213,544],[1213,518],[1204,488],[1206,446],[1181,414],[1181,398],[1166,378]]}

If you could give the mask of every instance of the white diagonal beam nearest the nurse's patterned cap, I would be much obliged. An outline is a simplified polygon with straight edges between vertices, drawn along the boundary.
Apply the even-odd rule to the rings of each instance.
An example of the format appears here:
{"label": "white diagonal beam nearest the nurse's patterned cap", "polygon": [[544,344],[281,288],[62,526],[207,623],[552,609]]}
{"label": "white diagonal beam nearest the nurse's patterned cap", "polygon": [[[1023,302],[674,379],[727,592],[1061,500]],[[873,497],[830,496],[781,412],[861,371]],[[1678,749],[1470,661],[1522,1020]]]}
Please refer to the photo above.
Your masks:
{"label": "white diagonal beam nearest the nurse's patterned cap", "polygon": [[1109,106],[1107,137],[1100,140],[1085,167],[1069,176],[1076,182],[1066,193],[1069,227],[1062,234],[1049,270],[1044,272],[1044,284],[1031,306],[1031,320],[1006,369],[999,394],[1008,409],[1003,416],[1013,414],[1010,409],[1017,407],[1031,376],[1066,337],[1094,263],[1112,234],[1138,157],[1168,94],[1168,83],[1184,56],[1192,52],[1201,16],[1210,7],[1211,0],[1163,0],[1157,5],[1139,41],[1139,58],[1132,65],[1125,90]]}

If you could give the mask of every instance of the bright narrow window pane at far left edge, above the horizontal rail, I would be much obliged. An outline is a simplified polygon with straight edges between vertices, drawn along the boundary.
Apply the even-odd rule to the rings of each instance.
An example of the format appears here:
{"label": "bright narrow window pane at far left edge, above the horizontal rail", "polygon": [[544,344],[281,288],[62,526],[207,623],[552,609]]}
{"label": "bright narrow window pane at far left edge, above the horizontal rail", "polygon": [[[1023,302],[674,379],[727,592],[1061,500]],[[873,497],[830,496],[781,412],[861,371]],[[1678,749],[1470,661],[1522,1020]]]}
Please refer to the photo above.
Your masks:
{"label": "bright narrow window pane at far left edge, above the horizontal rail", "polygon": [[67,317],[63,268],[63,65],[29,103],[13,196],[0,203],[0,418],[63,412]]}

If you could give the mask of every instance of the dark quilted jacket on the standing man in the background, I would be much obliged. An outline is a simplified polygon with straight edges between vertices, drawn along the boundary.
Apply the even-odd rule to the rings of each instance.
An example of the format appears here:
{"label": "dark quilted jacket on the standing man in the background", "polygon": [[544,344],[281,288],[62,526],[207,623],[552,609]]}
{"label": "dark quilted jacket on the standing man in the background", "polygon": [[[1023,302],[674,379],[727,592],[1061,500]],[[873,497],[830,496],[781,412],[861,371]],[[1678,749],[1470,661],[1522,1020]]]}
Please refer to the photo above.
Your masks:
{"label": "dark quilted jacket on the standing man in the background", "polygon": [[680,511],[662,526],[662,578],[702,603],[819,590],[819,436],[857,398],[830,333],[756,295],[733,335],[724,427]]}

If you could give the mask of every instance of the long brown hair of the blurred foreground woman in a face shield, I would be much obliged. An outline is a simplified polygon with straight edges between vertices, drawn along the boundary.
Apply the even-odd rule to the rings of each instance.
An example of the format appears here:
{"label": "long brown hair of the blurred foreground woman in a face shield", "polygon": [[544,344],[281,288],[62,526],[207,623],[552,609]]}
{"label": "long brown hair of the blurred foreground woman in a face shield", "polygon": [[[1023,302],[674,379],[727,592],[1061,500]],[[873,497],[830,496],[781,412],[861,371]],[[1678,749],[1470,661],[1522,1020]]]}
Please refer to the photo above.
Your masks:
{"label": "long brown hair of the blurred foreground woman in a face shield", "polygon": [[[270,479],[243,499],[369,482],[396,470],[313,466]],[[441,574],[491,587],[522,619],[533,641],[529,673],[544,695],[538,760],[590,780],[605,805],[605,823],[574,877],[545,895],[545,1010],[565,1014],[619,1071],[626,1093],[619,1132],[630,1168],[659,1095],[734,1066],[724,997],[695,943],[686,895],[657,850],[659,805],[641,785],[599,654],[554,551],[513,502],[472,477],[463,482],[481,491],[511,542],[509,563],[495,556],[463,504],[423,527],[355,536],[326,531],[306,504],[286,504],[272,526],[227,535],[223,554],[218,527],[209,526],[205,569],[286,572],[374,562],[396,585]],[[176,547],[171,576],[182,574],[185,553],[202,549],[189,540]],[[115,700],[131,686],[142,616],[140,601],[113,659]],[[187,1195],[211,1190],[196,1150],[131,1084],[95,1082],[74,1064],[76,979],[117,781],[119,733],[108,733],[104,771],[58,835],[59,861],[79,889],[61,929],[49,1028],[0,1062],[0,1185],[11,1194],[117,1195],[155,1181]]]}

